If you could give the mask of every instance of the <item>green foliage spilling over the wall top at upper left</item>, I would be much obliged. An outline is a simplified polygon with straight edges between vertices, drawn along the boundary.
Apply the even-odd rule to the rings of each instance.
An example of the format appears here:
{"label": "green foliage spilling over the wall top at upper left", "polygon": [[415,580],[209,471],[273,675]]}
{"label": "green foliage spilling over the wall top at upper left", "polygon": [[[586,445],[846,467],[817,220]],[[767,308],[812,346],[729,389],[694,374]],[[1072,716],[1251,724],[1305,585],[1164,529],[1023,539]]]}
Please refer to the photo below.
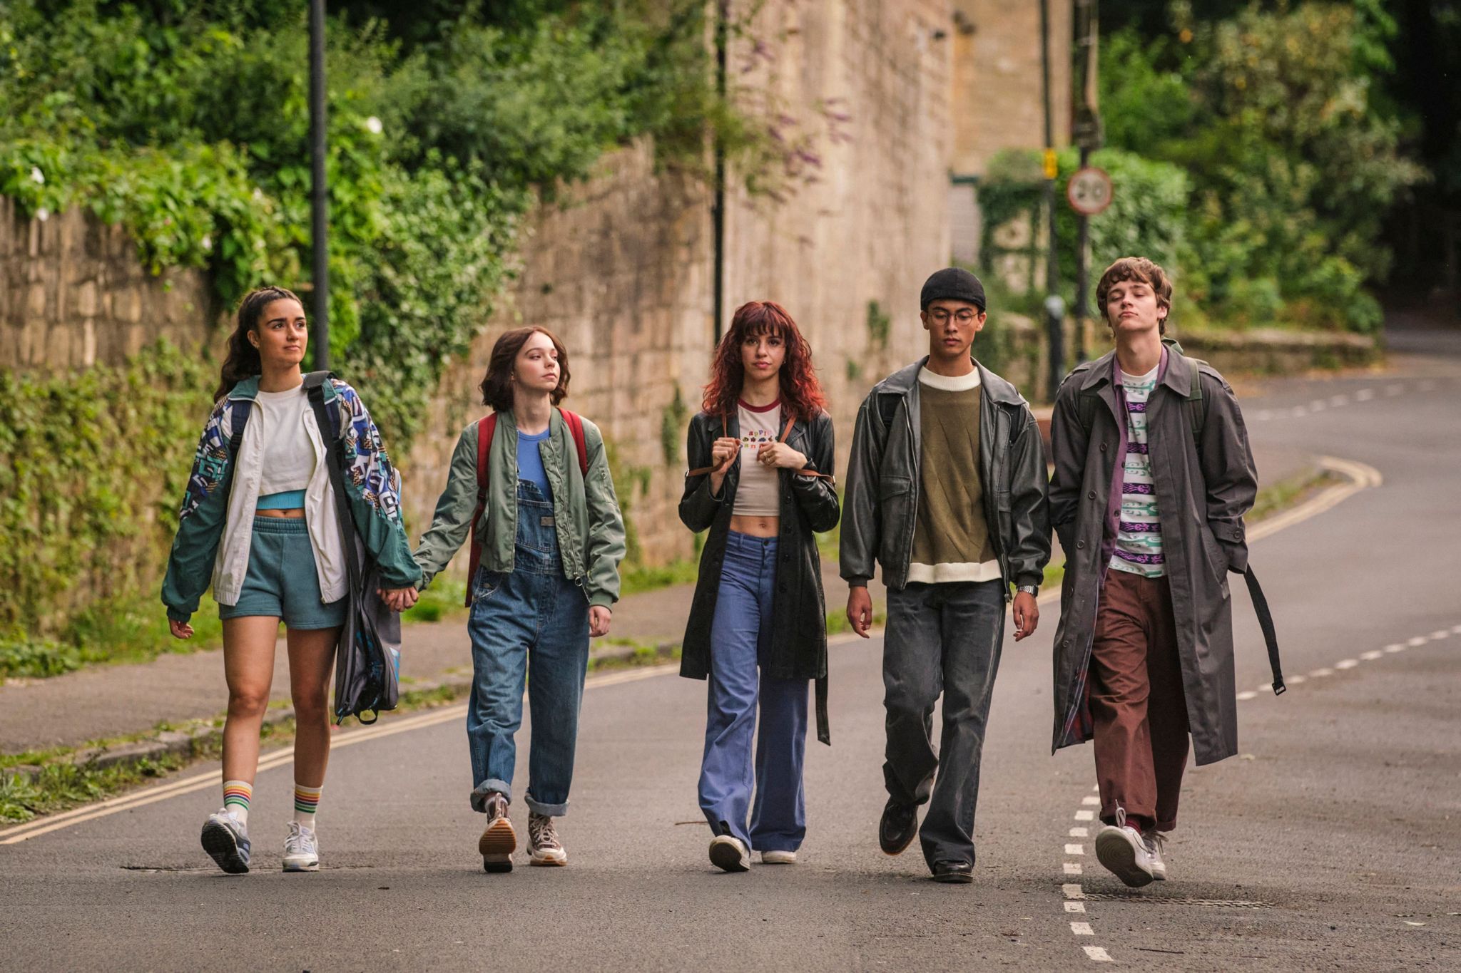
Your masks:
{"label": "green foliage spilling over the wall top at upper left", "polygon": [[[698,166],[707,127],[739,124],[712,89],[703,6],[435,4],[431,29],[406,29],[370,19],[390,4],[340,4],[330,352],[397,451],[484,327],[539,194],[640,134]],[[0,193],[26,216],[86,206],[123,223],[153,273],[209,270],[221,306],[305,286],[304,28],[302,9],[270,0],[4,4]]]}

